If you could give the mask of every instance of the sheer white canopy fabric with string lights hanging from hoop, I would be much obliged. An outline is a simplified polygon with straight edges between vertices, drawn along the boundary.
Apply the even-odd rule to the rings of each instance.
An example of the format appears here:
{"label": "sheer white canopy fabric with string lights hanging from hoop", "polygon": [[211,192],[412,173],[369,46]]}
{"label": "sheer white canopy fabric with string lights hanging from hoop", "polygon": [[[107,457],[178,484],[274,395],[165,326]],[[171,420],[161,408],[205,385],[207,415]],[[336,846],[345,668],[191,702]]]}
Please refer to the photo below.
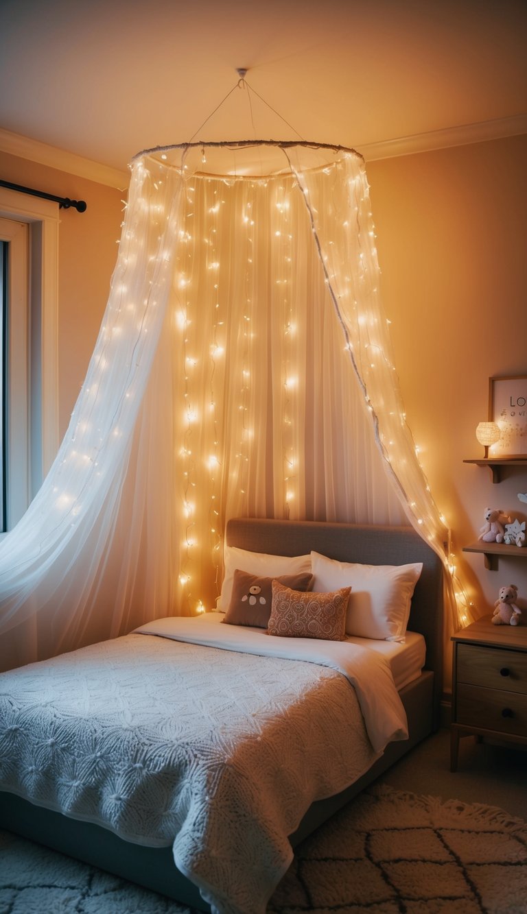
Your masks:
{"label": "sheer white canopy fabric with string lights hanging from hoop", "polygon": [[445,558],[378,283],[353,151],[135,158],[70,427],[0,544],[0,632],[37,620],[26,659],[210,607],[233,515],[409,518]]}

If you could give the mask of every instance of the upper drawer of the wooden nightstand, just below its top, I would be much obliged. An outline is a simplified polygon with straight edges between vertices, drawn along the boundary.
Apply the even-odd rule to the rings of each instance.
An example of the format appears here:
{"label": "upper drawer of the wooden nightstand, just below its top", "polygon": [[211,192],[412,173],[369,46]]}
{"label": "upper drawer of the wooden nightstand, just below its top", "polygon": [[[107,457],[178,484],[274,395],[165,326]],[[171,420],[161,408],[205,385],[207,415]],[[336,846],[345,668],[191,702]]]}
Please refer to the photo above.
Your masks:
{"label": "upper drawer of the wooden nightstand, just below its top", "polygon": [[527,654],[457,644],[457,682],[527,694]]}

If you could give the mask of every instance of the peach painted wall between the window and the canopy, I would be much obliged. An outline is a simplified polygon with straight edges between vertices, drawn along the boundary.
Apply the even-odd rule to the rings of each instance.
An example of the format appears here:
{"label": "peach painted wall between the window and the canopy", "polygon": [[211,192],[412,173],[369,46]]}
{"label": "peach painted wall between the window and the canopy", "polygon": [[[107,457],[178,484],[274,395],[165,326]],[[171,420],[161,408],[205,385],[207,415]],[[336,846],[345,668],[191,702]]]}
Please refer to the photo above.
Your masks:
{"label": "peach painted wall between the window and the canopy", "polygon": [[60,210],[59,437],[88,367],[108,298],[121,236],[124,192],[0,153],[0,177],[48,194],[85,200],[86,212]]}

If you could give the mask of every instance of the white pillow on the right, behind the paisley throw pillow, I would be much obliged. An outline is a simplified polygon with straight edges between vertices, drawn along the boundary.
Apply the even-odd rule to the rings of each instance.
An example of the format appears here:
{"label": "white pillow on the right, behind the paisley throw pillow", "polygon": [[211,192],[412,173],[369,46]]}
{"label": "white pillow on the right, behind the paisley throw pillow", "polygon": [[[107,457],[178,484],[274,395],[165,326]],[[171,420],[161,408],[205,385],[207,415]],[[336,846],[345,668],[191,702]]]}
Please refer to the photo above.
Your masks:
{"label": "white pillow on the right, behind the paisley throw pillow", "polygon": [[346,632],[360,638],[403,641],[410,601],[423,570],[413,565],[355,565],[311,553],[313,590],[350,587]]}

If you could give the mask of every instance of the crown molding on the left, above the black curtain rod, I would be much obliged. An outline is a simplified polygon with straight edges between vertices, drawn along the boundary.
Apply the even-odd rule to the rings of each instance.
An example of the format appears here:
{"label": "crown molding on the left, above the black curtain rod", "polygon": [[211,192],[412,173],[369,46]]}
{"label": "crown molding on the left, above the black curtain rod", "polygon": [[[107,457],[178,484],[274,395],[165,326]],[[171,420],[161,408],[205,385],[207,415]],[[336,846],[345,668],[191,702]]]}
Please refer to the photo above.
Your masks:
{"label": "crown molding on the left, above the black curtain rod", "polygon": [[130,183],[130,175],[117,168],[92,162],[91,159],[85,159],[81,155],[68,153],[55,146],[49,146],[48,143],[31,140],[27,136],[11,133],[1,127],[0,152],[16,155],[18,158],[28,159],[30,162],[38,162],[38,165],[48,165],[49,168],[57,168],[68,175],[84,177],[89,181],[96,181],[97,184],[118,187],[120,190]]}

